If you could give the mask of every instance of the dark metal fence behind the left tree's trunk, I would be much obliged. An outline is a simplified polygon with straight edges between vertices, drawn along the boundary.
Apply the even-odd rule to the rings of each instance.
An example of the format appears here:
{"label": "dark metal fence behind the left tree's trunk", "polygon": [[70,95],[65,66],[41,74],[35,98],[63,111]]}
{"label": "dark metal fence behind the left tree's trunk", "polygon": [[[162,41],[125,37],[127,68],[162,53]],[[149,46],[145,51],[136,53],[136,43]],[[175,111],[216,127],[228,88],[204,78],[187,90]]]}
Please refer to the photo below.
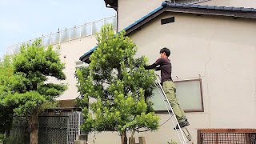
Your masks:
{"label": "dark metal fence behind the left tree's trunk", "polygon": [[[83,123],[81,112],[68,115],[39,116],[38,143],[39,144],[73,144]],[[15,144],[29,144],[30,134],[28,122],[24,117],[14,117],[10,132],[10,142]]]}

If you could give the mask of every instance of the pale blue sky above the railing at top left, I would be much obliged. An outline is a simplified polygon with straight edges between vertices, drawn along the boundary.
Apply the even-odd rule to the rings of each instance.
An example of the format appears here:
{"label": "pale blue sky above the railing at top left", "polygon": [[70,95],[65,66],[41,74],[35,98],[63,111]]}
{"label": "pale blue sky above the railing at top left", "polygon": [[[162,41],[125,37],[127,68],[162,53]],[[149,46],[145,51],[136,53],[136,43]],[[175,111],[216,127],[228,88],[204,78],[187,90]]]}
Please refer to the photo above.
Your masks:
{"label": "pale blue sky above the railing at top left", "polygon": [[0,56],[16,43],[114,15],[104,0],[0,0]]}

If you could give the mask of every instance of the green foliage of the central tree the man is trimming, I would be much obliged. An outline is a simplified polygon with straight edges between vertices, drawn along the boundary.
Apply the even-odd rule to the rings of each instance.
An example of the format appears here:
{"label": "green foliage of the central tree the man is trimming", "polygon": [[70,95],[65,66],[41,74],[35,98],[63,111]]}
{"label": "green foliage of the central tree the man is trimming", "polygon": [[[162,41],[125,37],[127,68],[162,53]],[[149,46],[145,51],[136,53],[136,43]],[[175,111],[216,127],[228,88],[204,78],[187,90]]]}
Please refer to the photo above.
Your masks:
{"label": "green foliage of the central tree the man is trimming", "polygon": [[[126,130],[134,134],[139,128],[158,129],[159,118],[149,99],[154,71],[144,69],[145,57],[134,58],[137,46],[124,34],[103,26],[90,66],[77,70],[78,103],[86,117],[82,126],[86,132],[118,131],[122,135]],[[90,98],[94,102],[89,103]]]}

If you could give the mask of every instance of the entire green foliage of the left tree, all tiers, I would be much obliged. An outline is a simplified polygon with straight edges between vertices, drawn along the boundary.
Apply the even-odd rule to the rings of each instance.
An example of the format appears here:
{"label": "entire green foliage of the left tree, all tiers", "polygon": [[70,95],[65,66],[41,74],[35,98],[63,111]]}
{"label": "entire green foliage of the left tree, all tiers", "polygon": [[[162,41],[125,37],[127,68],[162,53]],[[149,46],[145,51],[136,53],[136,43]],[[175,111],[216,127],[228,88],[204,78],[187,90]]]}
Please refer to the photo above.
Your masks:
{"label": "entire green foliage of the left tree, all tiers", "polygon": [[66,90],[64,84],[46,83],[49,77],[62,80],[66,75],[62,72],[64,63],[59,54],[52,46],[41,46],[40,40],[21,46],[20,53],[10,63],[13,76],[4,82],[2,103],[12,106],[18,115],[30,117],[34,110],[54,101]]}

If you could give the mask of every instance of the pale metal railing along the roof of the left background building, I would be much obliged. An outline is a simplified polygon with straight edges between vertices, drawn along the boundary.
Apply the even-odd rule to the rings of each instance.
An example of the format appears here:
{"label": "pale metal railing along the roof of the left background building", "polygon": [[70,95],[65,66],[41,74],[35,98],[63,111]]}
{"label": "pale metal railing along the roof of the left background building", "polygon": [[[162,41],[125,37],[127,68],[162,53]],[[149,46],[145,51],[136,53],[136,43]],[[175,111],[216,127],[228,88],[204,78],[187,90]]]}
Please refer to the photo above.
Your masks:
{"label": "pale metal railing along the roof of the left background building", "polygon": [[[117,17],[112,16],[109,18],[103,18],[98,21],[88,22],[80,26],[74,26],[70,29],[58,30],[55,33],[42,35],[42,37],[39,37],[39,39],[42,39],[42,46],[50,46],[61,44],[62,42],[70,42],[72,40],[88,37],[100,32],[101,27],[107,23],[112,24],[114,26],[114,30],[117,30]],[[38,38],[30,39],[26,42],[20,42],[12,46],[8,46],[6,53],[16,54],[18,53],[20,46],[26,43],[32,44],[36,39]]]}

